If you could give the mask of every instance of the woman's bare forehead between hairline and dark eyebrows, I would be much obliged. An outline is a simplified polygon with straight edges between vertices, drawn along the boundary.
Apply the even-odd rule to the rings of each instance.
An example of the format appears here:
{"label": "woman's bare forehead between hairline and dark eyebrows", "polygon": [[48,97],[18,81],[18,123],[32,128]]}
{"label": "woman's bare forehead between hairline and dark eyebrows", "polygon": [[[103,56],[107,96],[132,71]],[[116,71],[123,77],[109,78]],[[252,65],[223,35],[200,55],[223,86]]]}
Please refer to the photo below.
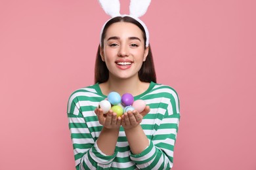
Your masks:
{"label": "woman's bare forehead between hairline and dark eyebrows", "polygon": [[142,38],[142,31],[140,28],[132,23],[129,22],[116,22],[106,30],[106,38],[118,36],[118,37],[141,37]]}

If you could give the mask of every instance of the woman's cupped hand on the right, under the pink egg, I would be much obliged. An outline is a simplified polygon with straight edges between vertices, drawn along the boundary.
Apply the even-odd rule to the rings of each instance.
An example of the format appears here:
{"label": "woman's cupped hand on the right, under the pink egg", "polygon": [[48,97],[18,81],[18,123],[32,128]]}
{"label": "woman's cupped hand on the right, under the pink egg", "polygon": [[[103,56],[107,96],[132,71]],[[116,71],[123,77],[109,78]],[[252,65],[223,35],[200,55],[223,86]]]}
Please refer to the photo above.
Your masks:
{"label": "woman's cupped hand on the right, under the pink egg", "polygon": [[138,112],[137,110],[129,110],[128,112],[125,112],[121,116],[121,126],[123,126],[124,129],[137,127],[148,112],[150,112],[149,106],[146,106],[142,112]]}

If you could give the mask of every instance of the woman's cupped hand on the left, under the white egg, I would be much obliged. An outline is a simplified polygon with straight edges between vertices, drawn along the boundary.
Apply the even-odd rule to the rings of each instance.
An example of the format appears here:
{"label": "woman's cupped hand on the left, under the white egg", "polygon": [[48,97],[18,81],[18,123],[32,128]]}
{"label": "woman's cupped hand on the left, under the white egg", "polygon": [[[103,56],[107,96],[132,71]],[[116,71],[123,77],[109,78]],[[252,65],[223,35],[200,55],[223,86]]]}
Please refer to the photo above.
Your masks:
{"label": "woman's cupped hand on the left, under the white egg", "polygon": [[98,117],[98,122],[107,129],[117,129],[121,126],[121,117],[117,118],[116,112],[109,110],[104,114],[102,109],[95,109],[95,114]]}

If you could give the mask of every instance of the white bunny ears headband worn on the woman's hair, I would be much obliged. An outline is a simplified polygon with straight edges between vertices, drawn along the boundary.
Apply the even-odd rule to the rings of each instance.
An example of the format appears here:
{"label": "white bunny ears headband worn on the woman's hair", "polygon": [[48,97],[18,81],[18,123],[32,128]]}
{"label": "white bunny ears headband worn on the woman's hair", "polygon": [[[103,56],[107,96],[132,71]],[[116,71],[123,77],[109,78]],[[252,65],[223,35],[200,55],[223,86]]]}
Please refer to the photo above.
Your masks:
{"label": "white bunny ears headband worn on the woman's hair", "polygon": [[[139,19],[140,16],[143,16],[146,13],[146,10],[148,9],[148,6],[150,5],[151,0],[131,0],[130,2],[130,14],[127,15],[121,15],[120,14],[120,2],[119,0],[98,0],[102,9],[106,12],[106,14],[110,15],[112,18],[116,16],[129,16],[137,22],[139,22],[145,30],[146,33],[146,47],[148,47],[149,44],[149,32],[148,28],[146,27],[146,24],[142,22],[142,20]],[[110,18],[110,20],[112,19]],[[109,20],[108,20],[109,21]],[[108,23],[108,21],[106,23]],[[101,37],[102,37],[102,31],[106,25],[106,23],[103,25],[101,31],[100,31],[100,46],[101,44]]]}

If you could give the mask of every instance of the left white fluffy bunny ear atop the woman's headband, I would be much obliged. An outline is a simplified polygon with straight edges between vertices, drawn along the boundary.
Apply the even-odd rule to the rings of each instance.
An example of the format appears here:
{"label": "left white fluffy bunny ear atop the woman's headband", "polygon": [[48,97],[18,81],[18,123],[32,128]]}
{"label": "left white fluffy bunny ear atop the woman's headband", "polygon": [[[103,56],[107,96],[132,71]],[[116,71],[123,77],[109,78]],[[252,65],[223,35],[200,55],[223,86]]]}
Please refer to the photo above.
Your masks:
{"label": "left white fluffy bunny ear atop the woman's headband", "polygon": [[110,15],[112,18],[115,16],[120,16],[120,2],[119,0],[98,0],[102,9],[106,14]]}

